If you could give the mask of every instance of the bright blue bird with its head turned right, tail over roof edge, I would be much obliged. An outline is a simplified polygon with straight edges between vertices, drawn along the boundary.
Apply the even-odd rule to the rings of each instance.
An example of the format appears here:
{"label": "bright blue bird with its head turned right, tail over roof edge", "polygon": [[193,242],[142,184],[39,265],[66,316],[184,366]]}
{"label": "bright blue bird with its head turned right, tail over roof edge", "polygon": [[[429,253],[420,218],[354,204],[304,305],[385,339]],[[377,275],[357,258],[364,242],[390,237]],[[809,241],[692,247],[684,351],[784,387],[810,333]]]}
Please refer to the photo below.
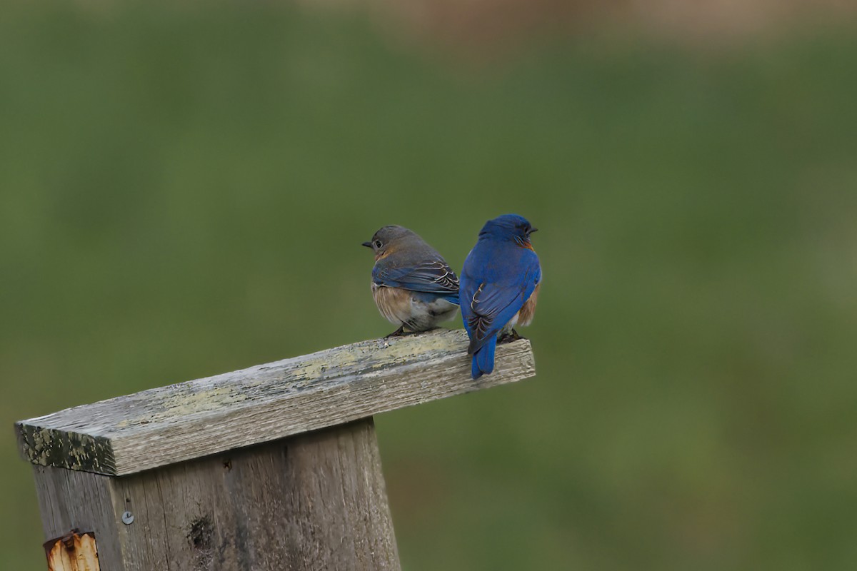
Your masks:
{"label": "bright blue bird with its head turned right, tail over roof edge", "polygon": [[530,244],[536,229],[524,217],[505,214],[488,220],[461,270],[461,317],[473,355],[470,374],[494,371],[497,337],[517,333],[536,312],[542,267]]}

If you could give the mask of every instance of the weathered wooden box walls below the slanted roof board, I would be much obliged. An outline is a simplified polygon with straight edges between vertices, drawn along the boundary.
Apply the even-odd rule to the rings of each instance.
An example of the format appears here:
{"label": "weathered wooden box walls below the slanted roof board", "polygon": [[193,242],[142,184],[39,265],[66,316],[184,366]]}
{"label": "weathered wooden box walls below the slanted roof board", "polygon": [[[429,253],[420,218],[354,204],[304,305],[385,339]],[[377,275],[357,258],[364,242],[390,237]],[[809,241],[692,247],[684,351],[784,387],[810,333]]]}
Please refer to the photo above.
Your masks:
{"label": "weathered wooden box walls below the slanted roof board", "polygon": [[129,476],[36,473],[45,533],[89,526],[103,569],[399,570],[372,419]]}

